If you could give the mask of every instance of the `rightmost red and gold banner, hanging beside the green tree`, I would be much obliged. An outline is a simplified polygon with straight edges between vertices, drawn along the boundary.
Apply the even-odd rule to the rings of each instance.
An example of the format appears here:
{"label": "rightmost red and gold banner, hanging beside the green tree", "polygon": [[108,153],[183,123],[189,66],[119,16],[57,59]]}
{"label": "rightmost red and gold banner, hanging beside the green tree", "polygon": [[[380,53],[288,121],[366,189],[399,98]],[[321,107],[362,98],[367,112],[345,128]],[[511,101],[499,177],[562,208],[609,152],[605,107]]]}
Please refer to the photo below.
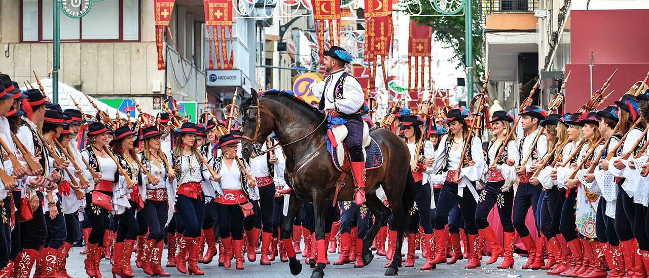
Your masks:
{"label": "rightmost red and gold banner, hanging beside the green tree", "polygon": [[[433,29],[430,26],[418,25],[415,20],[410,19],[409,32],[408,89],[415,91],[424,89],[426,86],[424,73],[426,72],[426,60],[428,60],[428,81],[430,90],[432,90],[432,57],[430,57],[430,52],[432,51]],[[413,69],[415,71],[414,84],[412,82]]]}

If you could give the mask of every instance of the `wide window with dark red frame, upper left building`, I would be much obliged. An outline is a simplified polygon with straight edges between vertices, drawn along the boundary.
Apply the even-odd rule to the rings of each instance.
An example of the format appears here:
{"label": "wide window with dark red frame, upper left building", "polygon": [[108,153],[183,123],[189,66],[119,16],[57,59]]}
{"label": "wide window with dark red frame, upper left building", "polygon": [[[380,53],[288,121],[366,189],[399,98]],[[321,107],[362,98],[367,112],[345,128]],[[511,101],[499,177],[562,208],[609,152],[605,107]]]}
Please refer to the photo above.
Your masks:
{"label": "wide window with dark red frame, upper left building", "polygon": [[[22,42],[51,42],[53,1],[57,0],[21,0]],[[140,1],[96,1],[80,19],[69,18],[61,11],[60,38],[62,41],[138,41]]]}

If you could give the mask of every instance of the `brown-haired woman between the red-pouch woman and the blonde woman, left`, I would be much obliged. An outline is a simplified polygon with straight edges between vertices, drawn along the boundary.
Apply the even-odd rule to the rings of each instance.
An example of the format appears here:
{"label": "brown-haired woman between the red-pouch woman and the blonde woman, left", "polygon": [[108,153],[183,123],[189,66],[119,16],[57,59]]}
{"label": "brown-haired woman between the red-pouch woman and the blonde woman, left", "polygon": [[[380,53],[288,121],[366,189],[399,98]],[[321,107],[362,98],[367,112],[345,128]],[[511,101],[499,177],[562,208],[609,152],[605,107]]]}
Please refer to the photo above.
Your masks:
{"label": "brown-haired woman between the red-pouch woman and the blonde woman, left", "polygon": [[140,225],[135,214],[143,206],[139,187],[139,184],[142,184],[140,178],[142,170],[136,161],[138,157],[133,147],[134,136],[135,133],[129,125],[122,125],[115,130],[115,140],[110,142],[112,153],[132,181],[129,184],[123,181],[125,177],[120,177],[113,192],[113,203],[116,207],[113,214],[115,225],[117,225],[117,236],[112,253],[112,273],[120,277],[134,277],[130,258],[135,240],[140,232]]}

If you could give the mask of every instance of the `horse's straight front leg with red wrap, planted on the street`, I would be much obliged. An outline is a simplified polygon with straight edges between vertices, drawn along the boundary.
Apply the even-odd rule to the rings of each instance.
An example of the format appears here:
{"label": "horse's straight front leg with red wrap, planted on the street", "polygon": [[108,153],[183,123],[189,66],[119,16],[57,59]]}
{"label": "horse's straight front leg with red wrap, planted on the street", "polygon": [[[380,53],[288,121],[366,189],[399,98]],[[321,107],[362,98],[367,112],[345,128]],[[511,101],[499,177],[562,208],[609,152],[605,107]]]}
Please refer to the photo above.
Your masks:
{"label": "horse's straight front leg with red wrap, planted on the street", "polygon": [[317,261],[315,262],[315,270],[311,275],[312,278],[323,278],[324,267],[326,266],[326,252],[328,242],[324,239],[324,222],[326,221],[326,194],[321,192],[313,192],[313,214],[315,220],[315,241],[317,242]]}

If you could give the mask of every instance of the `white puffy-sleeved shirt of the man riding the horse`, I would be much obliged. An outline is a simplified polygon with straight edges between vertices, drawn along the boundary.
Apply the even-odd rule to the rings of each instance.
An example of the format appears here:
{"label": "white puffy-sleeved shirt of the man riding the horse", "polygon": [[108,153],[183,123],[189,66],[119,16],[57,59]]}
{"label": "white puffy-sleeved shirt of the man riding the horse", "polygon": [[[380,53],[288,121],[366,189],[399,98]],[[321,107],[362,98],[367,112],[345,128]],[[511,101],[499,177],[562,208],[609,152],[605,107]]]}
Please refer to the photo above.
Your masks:
{"label": "white puffy-sleeved shirt of the man riding the horse", "polygon": [[354,114],[358,112],[363,105],[365,94],[363,94],[363,88],[356,79],[353,77],[347,77],[343,82],[343,99],[336,99],[336,104],[334,105],[334,88],[336,87],[336,82],[340,79],[341,75],[343,75],[343,69],[332,72],[331,75],[324,79],[324,81],[313,84],[311,86],[311,92],[313,92],[313,95],[318,97],[320,101],[323,101],[324,97],[325,110],[336,108],[339,112]]}

